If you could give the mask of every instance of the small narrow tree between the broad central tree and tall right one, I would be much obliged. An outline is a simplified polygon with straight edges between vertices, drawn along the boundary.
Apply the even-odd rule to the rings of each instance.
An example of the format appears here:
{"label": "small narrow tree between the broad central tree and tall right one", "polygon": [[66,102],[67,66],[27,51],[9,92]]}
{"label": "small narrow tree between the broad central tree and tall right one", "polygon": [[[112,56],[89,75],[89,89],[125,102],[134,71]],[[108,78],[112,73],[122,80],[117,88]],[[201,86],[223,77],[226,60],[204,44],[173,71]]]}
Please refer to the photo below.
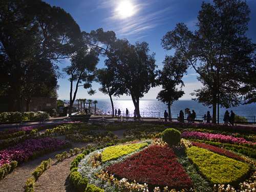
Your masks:
{"label": "small narrow tree between the broad central tree and tall right one", "polygon": [[157,79],[157,83],[162,86],[163,90],[158,93],[157,99],[167,104],[169,120],[172,121],[170,106],[184,94],[184,91],[178,90],[176,87],[180,85],[182,88],[184,86],[182,77],[186,72],[187,65],[177,55],[174,57],[165,56],[163,64],[163,69],[158,72],[159,77]]}

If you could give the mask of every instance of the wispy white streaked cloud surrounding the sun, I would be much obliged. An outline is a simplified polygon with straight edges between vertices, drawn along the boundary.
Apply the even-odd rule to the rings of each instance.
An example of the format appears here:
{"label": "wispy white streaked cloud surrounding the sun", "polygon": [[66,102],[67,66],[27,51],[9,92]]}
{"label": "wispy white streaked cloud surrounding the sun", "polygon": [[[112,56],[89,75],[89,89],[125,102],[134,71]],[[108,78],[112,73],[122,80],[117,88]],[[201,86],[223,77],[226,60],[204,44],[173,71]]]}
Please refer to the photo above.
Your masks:
{"label": "wispy white streaked cloud surrounding the sun", "polygon": [[[110,9],[110,16],[106,17],[103,22],[109,30],[114,30],[118,36],[136,36],[138,38],[145,35],[145,32],[152,30],[160,25],[164,25],[170,16],[166,13],[172,10],[166,7],[161,10],[154,10],[154,1],[141,3],[138,0],[130,0],[134,6],[134,15],[121,19],[116,12],[116,7],[120,1],[100,1],[97,9]],[[169,14],[168,14],[169,15]]]}

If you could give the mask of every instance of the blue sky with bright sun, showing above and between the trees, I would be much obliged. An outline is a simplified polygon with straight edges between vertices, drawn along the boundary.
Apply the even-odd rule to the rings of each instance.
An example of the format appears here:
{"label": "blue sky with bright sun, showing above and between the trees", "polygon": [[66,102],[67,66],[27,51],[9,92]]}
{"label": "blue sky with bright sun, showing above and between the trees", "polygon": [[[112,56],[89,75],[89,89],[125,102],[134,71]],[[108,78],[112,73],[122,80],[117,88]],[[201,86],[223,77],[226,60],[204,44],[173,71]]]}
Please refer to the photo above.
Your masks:
{"label": "blue sky with bright sun, showing above and between the trees", "polygon": [[[185,23],[190,30],[196,29],[197,15],[201,9],[201,0],[47,0],[52,6],[58,6],[70,13],[81,31],[90,32],[98,28],[104,31],[112,30],[118,38],[126,38],[132,44],[136,41],[146,41],[151,52],[155,52],[156,65],[162,68],[162,61],[165,55],[172,55],[174,52],[165,51],[161,46],[161,38],[170,30],[173,30],[177,23]],[[205,0],[204,2],[212,2]],[[247,36],[256,42],[256,0],[248,0],[247,4],[251,10],[250,22]],[[58,63],[61,77],[58,79],[59,99],[69,99],[70,82],[68,76],[62,69],[69,66],[68,59]],[[97,68],[104,67],[104,58],[100,58]],[[185,94],[181,100],[190,100],[194,90],[201,87],[197,80],[197,74],[193,69],[188,69],[183,81]],[[96,94],[90,96],[87,91],[79,87],[76,98],[107,99],[108,95],[101,93],[100,85],[93,82],[92,89]],[[151,88],[142,99],[156,99],[161,87]],[[131,99],[123,95],[118,99]]]}

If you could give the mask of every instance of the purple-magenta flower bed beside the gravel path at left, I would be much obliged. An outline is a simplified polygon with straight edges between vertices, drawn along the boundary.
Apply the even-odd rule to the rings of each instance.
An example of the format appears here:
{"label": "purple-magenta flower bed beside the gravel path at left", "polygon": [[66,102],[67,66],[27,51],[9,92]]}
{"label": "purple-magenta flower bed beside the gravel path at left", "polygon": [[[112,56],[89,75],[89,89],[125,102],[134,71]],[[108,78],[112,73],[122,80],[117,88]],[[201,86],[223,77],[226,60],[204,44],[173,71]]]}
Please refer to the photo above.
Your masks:
{"label": "purple-magenta flower bed beside the gravel path at left", "polygon": [[55,138],[29,139],[16,146],[6,148],[0,151],[0,167],[3,164],[9,164],[11,161],[18,163],[28,160],[37,155],[56,151],[59,148],[70,145],[68,141]]}

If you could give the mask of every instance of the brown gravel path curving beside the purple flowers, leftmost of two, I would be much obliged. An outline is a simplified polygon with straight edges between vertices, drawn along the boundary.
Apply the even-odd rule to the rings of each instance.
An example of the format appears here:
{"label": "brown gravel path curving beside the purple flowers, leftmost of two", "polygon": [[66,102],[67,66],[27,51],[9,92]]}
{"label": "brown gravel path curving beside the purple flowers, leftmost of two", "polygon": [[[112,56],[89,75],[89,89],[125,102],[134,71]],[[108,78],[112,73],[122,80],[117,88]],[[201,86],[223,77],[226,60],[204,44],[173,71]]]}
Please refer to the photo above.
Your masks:
{"label": "brown gravel path curving beside the purple flowers, leftmost of two", "polygon": [[[72,148],[83,147],[83,146],[86,146],[86,143],[74,143]],[[28,161],[26,163],[18,165],[18,167],[15,168],[12,173],[8,174],[4,179],[0,180],[0,192],[14,192],[14,191],[23,192],[24,191],[23,187],[25,186],[26,180],[29,177],[31,177],[31,173],[41,163],[41,161],[51,158],[53,159],[53,163],[54,163],[56,161],[55,160],[56,154],[59,154],[64,151],[68,151],[69,149],[70,148],[65,148],[63,150],[41,156],[32,161]],[[73,157],[71,157],[70,159],[67,159],[67,161],[63,161],[63,163],[68,163],[68,161],[71,160],[72,158]],[[68,166],[68,168],[69,167],[70,166]],[[58,178],[56,177],[56,179]],[[51,190],[51,191],[54,191],[54,190]]]}

